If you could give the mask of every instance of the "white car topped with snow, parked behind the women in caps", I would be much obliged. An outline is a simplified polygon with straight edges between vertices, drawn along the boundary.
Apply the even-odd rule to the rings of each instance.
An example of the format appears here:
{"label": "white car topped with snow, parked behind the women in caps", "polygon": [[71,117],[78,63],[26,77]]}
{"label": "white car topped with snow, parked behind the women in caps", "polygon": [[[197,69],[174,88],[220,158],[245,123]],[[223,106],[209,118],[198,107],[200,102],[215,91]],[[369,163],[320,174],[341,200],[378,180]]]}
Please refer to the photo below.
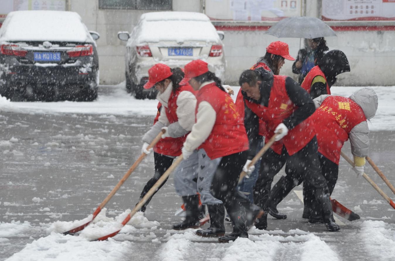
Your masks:
{"label": "white car topped with snow, parked behind the women in caps", "polygon": [[155,89],[145,90],[143,85],[148,81],[148,69],[156,63],[173,68],[202,59],[218,77],[224,75],[224,33],[216,31],[203,13],[145,13],[132,33],[119,32],[118,38],[127,41],[126,89],[138,99],[155,97]]}

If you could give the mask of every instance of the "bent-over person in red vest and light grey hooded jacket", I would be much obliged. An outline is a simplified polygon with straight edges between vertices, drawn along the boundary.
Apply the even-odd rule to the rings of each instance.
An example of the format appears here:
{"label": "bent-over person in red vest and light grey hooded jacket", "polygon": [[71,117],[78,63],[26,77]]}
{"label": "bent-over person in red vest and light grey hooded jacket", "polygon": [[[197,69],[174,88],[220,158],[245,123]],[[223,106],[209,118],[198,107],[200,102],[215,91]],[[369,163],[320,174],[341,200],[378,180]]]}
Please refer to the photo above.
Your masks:
{"label": "bent-over person in red vest and light grey hooded jacket", "polygon": [[[372,88],[363,88],[355,91],[349,98],[321,95],[314,99],[314,103],[317,110],[310,119],[316,123],[322,173],[327,180],[329,194],[332,194],[339,173],[340,151],[348,139],[354,155],[353,170],[357,175],[363,174],[365,157],[369,150],[367,120],[376,114],[378,98]],[[310,223],[322,222],[314,196],[310,191],[306,192],[308,196],[305,199],[307,204],[305,203],[303,218],[308,218]]]}

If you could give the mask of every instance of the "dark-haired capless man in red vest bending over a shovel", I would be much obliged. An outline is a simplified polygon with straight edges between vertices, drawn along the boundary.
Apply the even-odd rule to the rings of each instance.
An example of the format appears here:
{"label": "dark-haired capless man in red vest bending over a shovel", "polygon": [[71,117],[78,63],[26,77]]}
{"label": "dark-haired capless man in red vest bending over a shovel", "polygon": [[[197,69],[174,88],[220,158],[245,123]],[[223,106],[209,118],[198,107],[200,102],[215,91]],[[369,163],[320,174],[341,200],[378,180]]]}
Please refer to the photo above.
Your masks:
{"label": "dark-haired capless man in red vest bending over a shovel", "polygon": [[[267,124],[268,139],[277,134],[276,142],[262,157],[254,203],[263,210],[276,211],[275,206],[295,185],[304,181],[314,191],[327,229],[339,230],[330,218],[329,190],[318,162],[316,131],[309,119],[315,107],[307,91],[292,78],[273,75],[261,68],[244,71],[239,84],[245,99],[245,125],[250,140],[258,133],[258,119]],[[249,157],[253,156],[254,151],[250,151]],[[271,191],[273,177],[284,164],[287,175],[281,177]],[[266,229],[267,213],[255,226]]]}

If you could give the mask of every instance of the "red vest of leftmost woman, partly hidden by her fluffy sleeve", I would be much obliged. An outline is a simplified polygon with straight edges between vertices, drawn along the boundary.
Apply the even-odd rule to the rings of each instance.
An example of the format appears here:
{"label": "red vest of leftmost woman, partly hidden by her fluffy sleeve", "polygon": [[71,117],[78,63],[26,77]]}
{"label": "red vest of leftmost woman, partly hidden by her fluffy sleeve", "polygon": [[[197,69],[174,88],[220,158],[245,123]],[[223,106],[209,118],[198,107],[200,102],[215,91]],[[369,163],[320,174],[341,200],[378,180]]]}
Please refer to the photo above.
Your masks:
{"label": "red vest of leftmost woman, partly hidden by her fluffy sleeve", "polygon": [[[166,117],[169,120],[169,123],[177,122],[177,98],[181,91],[190,91],[195,93],[194,89],[189,85],[182,85],[177,91],[172,91],[169,97],[169,101],[167,103],[167,108],[165,107]],[[162,106],[162,104],[158,103],[158,110]],[[158,121],[160,112],[156,115],[154,123]],[[186,135],[180,138],[171,138],[167,137],[161,139],[154,147],[154,151],[156,153],[160,153],[167,156],[179,156],[181,155],[182,144],[184,144]]]}

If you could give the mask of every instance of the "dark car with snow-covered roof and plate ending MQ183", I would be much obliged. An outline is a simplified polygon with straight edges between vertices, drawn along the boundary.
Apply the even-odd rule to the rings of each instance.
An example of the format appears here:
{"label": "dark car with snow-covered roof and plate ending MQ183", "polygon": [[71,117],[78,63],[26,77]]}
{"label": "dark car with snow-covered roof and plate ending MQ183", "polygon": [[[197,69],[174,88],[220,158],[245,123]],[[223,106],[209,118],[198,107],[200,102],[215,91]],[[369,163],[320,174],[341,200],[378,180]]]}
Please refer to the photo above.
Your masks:
{"label": "dark car with snow-covered roof and plate ending MQ183", "polygon": [[96,99],[98,38],[75,12],[10,12],[0,28],[0,94],[12,101]]}

